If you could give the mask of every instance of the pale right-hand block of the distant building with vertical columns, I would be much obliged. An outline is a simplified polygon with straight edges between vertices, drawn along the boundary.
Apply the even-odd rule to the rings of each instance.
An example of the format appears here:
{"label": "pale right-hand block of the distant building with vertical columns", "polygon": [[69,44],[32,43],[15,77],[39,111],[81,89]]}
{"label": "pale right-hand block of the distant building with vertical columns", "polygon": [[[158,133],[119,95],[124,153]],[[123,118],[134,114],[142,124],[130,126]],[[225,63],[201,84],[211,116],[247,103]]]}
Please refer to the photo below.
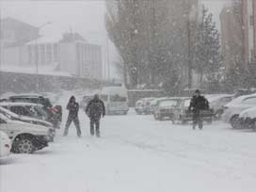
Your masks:
{"label": "pale right-hand block of the distant building with vertical columns", "polygon": [[66,33],[58,43],[62,72],[92,79],[103,79],[102,47],[90,44],[79,34]]}

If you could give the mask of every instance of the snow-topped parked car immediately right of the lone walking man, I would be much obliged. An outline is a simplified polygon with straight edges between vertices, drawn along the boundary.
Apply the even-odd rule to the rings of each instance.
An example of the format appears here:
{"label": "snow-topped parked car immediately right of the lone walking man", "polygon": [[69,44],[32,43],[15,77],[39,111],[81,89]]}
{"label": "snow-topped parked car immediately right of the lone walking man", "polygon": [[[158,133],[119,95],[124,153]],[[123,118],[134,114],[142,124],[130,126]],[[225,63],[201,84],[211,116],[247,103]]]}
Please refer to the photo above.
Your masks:
{"label": "snow-topped parked car immediately right of the lone walking man", "polygon": [[210,108],[214,110],[216,120],[220,120],[224,112],[224,105],[229,104],[233,99],[231,94],[217,94],[208,99]]}

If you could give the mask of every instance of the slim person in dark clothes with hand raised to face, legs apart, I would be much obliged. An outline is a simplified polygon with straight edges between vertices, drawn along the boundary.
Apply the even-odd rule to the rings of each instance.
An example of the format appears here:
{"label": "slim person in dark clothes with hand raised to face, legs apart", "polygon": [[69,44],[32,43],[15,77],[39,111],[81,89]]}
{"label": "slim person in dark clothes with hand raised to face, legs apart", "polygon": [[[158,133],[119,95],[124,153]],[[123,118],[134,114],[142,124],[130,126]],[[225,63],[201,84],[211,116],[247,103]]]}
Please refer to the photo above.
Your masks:
{"label": "slim person in dark clothes with hand raised to face, legs apart", "polygon": [[72,96],[68,105],[67,110],[69,110],[69,117],[66,122],[66,127],[64,131],[64,136],[68,136],[69,128],[71,126],[71,123],[73,122],[76,128],[77,136],[81,136],[81,129],[80,129],[80,122],[78,119],[78,111],[79,111],[79,104],[75,102],[75,97]]}

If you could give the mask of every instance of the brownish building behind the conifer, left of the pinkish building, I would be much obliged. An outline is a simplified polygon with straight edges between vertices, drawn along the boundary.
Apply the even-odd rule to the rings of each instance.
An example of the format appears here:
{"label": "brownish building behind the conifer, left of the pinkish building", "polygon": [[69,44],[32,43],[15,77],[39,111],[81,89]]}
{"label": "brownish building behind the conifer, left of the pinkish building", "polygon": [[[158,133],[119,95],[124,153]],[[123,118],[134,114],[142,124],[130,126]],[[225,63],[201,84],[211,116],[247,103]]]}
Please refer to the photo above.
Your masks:
{"label": "brownish building behind the conifer, left of the pinkish building", "polygon": [[241,3],[225,6],[220,13],[221,51],[226,73],[243,62],[243,31]]}

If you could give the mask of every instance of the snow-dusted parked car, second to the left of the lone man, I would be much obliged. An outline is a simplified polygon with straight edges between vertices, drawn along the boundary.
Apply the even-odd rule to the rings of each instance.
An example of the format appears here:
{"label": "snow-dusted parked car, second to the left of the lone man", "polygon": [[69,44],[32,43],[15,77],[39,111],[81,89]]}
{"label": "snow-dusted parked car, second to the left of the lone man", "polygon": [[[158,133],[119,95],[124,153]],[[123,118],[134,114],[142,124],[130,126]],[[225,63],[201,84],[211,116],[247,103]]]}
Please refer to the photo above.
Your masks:
{"label": "snow-dusted parked car, second to the left of the lone man", "polygon": [[179,98],[172,98],[159,101],[153,114],[154,120],[164,120],[166,118],[173,120],[174,108],[179,103],[179,100]]}

